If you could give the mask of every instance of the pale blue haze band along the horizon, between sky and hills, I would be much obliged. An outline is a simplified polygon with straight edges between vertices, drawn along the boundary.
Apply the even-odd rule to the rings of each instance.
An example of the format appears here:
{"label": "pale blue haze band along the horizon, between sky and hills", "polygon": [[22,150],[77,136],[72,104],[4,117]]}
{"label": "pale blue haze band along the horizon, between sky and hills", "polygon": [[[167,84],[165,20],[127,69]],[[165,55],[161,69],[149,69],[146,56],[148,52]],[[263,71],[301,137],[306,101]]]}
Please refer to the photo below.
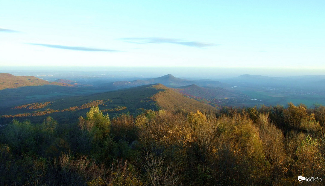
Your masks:
{"label": "pale blue haze band along the horizon, between sky and hills", "polygon": [[188,79],[222,79],[243,74],[269,77],[287,77],[300,75],[325,75],[325,69],[289,69],[289,68],[204,68],[204,67],[2,67],[0,73],[14,75],[51,75],[55,72],[76,74],[86,72],[92,75],[111,75],[120,77],[153,78],[166,74]]}

